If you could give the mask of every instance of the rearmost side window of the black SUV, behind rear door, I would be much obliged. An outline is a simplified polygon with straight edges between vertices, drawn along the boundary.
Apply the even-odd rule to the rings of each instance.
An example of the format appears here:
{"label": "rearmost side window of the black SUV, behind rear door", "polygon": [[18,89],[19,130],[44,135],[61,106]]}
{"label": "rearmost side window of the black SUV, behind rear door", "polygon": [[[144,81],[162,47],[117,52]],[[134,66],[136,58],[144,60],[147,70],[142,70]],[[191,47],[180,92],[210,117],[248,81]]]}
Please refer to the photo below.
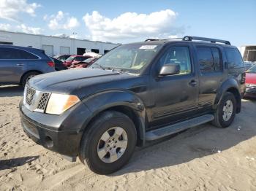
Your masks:
{"label": "rearmost side window of the black SUV, behind rear door", "polygon": [[236,48],[225,48],[227,55],[227,65],[229,69],[238,69],[244,67],[240,52]]}

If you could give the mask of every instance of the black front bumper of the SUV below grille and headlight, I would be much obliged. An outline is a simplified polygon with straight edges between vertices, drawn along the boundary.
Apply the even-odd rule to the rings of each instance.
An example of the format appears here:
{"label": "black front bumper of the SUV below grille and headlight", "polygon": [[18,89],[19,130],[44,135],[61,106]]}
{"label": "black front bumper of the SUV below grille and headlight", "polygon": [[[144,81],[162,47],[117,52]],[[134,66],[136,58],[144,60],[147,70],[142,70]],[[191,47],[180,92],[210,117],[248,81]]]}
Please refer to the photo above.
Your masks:
{"label": "black front bumper of the SUV below grille and headlight", "polygon": [[89,110],[82,103],[64,114],[52,115],[31,112],[20,102],[20,119],[25,133],[46,149],[69,157],[78,155],[85,114],[89,114]]}

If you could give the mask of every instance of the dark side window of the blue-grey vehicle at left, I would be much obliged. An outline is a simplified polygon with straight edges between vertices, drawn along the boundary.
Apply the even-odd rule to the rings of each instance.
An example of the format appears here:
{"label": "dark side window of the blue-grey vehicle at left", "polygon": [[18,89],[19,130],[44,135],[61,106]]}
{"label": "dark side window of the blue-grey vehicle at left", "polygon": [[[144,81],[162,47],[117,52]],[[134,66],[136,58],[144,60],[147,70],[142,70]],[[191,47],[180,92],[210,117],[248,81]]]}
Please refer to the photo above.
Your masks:
{"label": "dark side window of the blue-grey vehicle at left", "polygon": [[38,59],[38,57],[24,50],[0,47],[0,59]]}

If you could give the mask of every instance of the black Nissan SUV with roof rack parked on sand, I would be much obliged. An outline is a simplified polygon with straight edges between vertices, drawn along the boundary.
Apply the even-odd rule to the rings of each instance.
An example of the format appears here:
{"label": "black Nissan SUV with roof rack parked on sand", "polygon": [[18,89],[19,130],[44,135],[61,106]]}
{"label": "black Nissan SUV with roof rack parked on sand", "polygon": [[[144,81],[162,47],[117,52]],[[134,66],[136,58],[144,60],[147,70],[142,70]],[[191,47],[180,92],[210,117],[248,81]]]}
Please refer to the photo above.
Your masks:
{"label": "black Nissan SUV with roof rack parked on sand", "polygon": [[205,122],[228,127],[241,110],[244,77],[228,41],[148,39],[116,47],[89,69],[30,79],[20,116],[38,144],[110,174],[146,141]]}

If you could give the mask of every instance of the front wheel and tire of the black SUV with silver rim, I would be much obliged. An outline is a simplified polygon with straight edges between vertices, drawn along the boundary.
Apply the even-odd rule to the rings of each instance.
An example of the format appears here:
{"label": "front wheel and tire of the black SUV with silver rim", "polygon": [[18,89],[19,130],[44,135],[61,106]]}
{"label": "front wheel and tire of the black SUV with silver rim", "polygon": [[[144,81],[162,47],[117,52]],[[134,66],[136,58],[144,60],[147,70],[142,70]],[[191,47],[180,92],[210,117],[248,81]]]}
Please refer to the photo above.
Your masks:
{"label": "front wheel and tire of the black SUV with silver rim", "polygon": [[83,134],[78,157],[94,173],[111,174],[129,161],[136,142],[136,128],[127,115],[115,111],[103,112]]}

